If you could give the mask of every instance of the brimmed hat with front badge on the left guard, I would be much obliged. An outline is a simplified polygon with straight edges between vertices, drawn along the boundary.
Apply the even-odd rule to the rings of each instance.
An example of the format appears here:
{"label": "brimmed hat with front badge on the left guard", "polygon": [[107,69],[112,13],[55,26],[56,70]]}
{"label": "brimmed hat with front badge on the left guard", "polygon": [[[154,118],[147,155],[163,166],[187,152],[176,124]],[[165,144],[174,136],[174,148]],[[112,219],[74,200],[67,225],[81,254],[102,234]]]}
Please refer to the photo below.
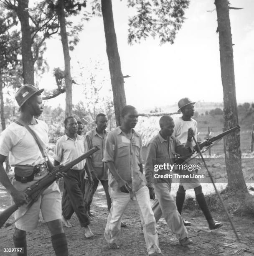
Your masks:
{"label": "brimmed hat with front badge on the left guard", "polygon": [[21,107],[30,97],[35,95],[38,92],[43,92],[44,89],[38,89],[32,84],[24,84],[21,86],[15,94],[15,99],[18,102],[18,105]]}

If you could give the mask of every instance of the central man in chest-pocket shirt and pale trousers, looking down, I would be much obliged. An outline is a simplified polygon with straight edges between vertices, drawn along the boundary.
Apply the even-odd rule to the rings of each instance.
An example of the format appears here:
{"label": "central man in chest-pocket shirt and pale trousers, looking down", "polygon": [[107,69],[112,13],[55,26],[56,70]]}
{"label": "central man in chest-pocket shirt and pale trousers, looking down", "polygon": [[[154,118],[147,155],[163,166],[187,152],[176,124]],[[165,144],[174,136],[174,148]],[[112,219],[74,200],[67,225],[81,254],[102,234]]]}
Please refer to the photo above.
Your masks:
{"label": "central man in chest-pocket shirt and pale trousers, looking down", "polygon": [[162,255],[155,218],[150,205],[149,192],[142,171],[142,141],[134,131],[137,124],[137,110],[130,105],[121,112],[122,123],[109,132],[106,140],[104,158],[109,168],[109,195],[112,200],[105,238],[109,248],[117,249],[121,218],[128,202],[137,202],[143,227],[145,243],[149,255]]}

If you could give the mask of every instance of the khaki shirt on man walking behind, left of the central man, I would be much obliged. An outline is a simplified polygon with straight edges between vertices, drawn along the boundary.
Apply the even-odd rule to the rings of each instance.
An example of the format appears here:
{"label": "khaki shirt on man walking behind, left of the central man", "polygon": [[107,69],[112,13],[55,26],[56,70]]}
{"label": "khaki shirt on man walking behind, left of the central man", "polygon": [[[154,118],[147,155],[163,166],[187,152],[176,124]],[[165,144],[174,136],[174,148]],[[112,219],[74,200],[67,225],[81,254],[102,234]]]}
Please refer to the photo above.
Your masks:
{"label": "khaki shirt on man walking behind, left of the central man", "polygon": [[102,162],[104,148],[106,145],[106,138],[108,132],[104,130],[104,136],[102,137],[99,133],[97,133],[96,129],[93,129],[86,133],[86,143],[88,150],[93,148],[94,146],[99,146],[100,149],[96,151],[94,154],[90,156],[92,166],[94,168],[103,168],[103,180],[107,180],[107,166],[105,163]]}

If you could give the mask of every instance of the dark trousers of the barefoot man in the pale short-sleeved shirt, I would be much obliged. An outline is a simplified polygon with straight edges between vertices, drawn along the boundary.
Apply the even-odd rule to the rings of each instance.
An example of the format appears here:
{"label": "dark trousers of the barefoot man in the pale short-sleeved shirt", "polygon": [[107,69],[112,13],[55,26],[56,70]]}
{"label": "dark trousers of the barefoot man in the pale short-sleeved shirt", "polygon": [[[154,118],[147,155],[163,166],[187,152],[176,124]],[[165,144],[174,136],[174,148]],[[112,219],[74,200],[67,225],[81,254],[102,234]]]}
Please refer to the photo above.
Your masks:
{"label": "dark trousers of the barefoot man in the pale short-sleeved shirt", "polygon": [[81,227],[90,224],[89,216],[85,210],[83,187],[84,170],[68,170],[64,178],[64,192],[62,197],[62,214],[69,220],[75,212]]}

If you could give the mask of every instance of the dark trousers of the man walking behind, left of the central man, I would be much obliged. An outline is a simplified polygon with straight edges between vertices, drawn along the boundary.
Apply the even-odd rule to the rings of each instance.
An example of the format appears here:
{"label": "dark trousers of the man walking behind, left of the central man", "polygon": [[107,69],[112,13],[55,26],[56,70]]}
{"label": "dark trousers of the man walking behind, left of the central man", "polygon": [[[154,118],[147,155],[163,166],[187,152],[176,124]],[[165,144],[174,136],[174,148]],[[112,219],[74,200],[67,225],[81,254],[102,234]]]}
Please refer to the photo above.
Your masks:
{"label": "dark trousers of the man walking behind, left of the central man", "polygon": [[[106,199],[107,199],[107,205],[108,205],[108,210],[110,210],[111,207],[111,198],[109,196],[109,185],[108,185],[108,180],[101,180],[102,186],[104,188],[105,194],[106,194]],[[87,212],[90,212],[90,206],[94,197],[94,193],[98,187],[99,180],[94,179],[94,185],[91,187],[89,186],[88,179],[86,179],[86,184],[85,184],[85,208]]]}

